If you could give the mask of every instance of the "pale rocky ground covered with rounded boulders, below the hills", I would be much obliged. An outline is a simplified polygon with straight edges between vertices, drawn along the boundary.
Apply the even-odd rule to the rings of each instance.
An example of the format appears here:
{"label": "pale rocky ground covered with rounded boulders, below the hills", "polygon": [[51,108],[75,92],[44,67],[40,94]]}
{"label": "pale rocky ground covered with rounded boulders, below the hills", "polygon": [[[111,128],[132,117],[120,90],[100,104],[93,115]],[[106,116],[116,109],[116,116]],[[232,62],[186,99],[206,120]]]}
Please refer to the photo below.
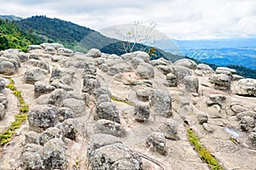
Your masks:
{"label": "pale rocky ground covered with rounded boulders, below the hills", "polygon": [[256,80],[235,70],[43,43],[1,51],[0,73],[0,133],[20,108],[9,77],[29,106],[1,170],[210,169],[188,129],[222,168],[256,169]]}

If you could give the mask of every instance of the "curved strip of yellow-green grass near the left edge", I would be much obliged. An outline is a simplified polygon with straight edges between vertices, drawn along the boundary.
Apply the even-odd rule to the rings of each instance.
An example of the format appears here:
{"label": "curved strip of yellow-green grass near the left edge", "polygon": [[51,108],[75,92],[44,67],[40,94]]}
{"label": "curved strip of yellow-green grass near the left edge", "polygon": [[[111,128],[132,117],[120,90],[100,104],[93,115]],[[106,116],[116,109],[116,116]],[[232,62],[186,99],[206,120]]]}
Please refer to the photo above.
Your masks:
{"label": "curved strip of yellow-green grass near the left edge", "polygon": [[7,144],[12,140],[15,130],[21,127],[22,122],[26,121],[27,111],[29,111],[28,105],[26,105],[24,99],[22,98],[21,92],[15,87],[15,82],[13,79],[9,78],[9,84],[6,87],[12,90],[13,94],[19,100],[20,112],[15,116],[15,122],[12,122],[7,130],[0,133],[0,145]]}

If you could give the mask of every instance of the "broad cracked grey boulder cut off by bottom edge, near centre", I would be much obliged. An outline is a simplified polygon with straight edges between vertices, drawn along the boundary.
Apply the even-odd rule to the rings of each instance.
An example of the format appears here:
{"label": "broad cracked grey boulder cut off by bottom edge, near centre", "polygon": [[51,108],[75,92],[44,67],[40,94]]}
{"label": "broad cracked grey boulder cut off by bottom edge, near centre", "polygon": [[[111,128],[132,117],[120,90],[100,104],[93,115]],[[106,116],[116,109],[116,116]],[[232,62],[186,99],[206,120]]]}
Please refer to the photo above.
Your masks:
{"label": "broad cracked grey boulder cut off by bottom edge, near centre", "polygon": [[125,144],[108,144],[92,153],[89,156],[92,169],[143,169],[142,158]]}

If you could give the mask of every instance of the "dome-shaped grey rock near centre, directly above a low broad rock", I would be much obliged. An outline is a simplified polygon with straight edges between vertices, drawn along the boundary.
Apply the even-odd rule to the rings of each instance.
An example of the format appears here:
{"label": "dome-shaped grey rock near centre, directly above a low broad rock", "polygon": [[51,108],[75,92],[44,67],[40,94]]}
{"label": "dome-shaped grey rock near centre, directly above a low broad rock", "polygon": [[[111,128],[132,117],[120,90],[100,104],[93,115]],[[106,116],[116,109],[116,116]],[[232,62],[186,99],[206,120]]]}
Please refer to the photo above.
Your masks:
{"label": "dome-shaped grey rock near centre, directly above a low broad rock", "polygon": [[94,116],[94,119],[107,119],[113,122],[120,122],[119,111],[113,103],[104,102],[96,106],[96,115]]}

